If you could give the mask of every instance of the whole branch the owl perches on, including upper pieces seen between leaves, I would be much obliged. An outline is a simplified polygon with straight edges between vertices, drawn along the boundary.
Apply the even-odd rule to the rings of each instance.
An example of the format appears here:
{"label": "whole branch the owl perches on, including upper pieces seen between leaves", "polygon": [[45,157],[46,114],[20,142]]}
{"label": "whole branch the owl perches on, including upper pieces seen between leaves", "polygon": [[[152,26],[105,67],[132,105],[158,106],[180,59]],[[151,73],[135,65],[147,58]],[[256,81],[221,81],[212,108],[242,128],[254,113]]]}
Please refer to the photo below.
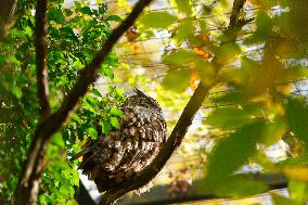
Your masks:
{"label": "whole branch the owl perches on, including upper pieces seen between leaves", "polygon": [[[232,14],[230,17],[230,24],[227,28],[224,36],[232,36],[231,39],[235,40],[238,30],[244,26],[242,23],[239,25],[239,15],[240,10],[243,8],[245,0],[234,0]],[[234,37],[234,38],[233,38]],[[221,42],[222,44],[224,42]],[[217,62],[216,56],[211,61],[213,66],[218,72],[223,64]],[[140,174],[136,177],[128,179],[115,188],[106,191],[102,197],[100,205],[111,205],[116,202],[125,193],[139,189],[146,183],[149,183],[164,167],[167,161],[170,158],[172,153],[180,146],[189,126],[192,124],[192,120],[201,107],[205,97],[208,94],[208,91],[217,84],[216,79],[209,82],[202,80],[197,86],[195,92],[191,97],[190,101],[185,105],[176,127],[174,128],[170,137],[167,142],[164,144],[162,151],[153,159],[153,162],[146,166]]]}

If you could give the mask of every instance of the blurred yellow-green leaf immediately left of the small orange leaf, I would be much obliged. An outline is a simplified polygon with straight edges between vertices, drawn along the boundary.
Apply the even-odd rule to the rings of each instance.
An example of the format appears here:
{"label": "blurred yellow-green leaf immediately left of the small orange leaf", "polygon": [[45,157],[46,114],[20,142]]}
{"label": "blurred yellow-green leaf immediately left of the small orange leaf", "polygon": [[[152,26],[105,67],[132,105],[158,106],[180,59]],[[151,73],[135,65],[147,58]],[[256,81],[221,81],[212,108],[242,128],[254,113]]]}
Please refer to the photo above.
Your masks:
{"label": "blurred yellow-green leaf immediately left of the small orange leaf", "polygon": [[163,62],[171,65],[183,65],[194,61],[196,55],[188,50],[179,50],[163,56]]}

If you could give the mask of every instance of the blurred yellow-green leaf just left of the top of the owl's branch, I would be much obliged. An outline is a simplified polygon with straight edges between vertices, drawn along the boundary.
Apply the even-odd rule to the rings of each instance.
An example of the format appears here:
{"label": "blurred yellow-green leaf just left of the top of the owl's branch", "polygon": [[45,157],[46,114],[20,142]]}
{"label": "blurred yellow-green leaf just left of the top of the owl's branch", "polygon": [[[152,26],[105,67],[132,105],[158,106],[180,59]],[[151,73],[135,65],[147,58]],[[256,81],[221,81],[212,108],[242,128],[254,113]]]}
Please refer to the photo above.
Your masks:
{"label": "blurred yellow-green leaf just left of the top of the owl's branch", "polygon": [[191,78],[190,69],[170,69],[163,80],[163,86],[175,92],[183,92]]}

